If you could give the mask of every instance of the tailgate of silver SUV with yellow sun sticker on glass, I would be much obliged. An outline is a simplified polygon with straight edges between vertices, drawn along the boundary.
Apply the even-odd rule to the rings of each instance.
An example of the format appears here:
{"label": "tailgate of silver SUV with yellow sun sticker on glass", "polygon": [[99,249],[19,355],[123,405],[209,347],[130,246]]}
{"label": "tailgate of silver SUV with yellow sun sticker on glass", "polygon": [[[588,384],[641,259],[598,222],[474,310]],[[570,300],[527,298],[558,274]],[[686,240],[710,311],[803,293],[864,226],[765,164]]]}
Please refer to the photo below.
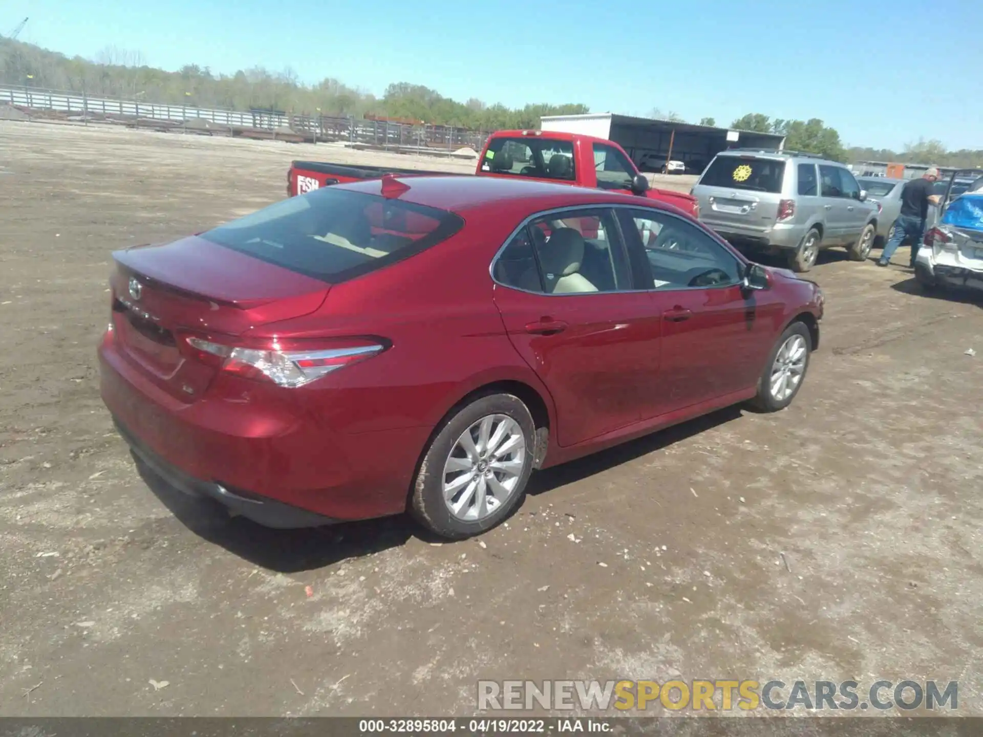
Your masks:
{"label": "tailgate of silver SUV with yellow sun sticker on glass", "polygon": [[700,219],[723,233],[764,236],[779,215],[784,173],[779,158],[717,156],[693,190]]}

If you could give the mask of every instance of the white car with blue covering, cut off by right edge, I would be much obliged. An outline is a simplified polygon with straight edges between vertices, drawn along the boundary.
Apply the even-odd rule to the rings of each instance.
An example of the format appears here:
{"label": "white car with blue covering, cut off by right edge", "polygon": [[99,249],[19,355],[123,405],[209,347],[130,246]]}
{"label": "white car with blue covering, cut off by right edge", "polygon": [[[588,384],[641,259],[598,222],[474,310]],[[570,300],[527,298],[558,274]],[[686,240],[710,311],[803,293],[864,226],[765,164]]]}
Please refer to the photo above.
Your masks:
{"label": "white car with blue covering, cut off by right edge", "polygon": [[[978,170],[955,172],[954,180]],[[941,215],[925,234],[915,259],[915,278],[926,289],[967,287],[983,291],[983,176],[961,195],[943,198]],[[948,202],[948,203],[947,203]]]}

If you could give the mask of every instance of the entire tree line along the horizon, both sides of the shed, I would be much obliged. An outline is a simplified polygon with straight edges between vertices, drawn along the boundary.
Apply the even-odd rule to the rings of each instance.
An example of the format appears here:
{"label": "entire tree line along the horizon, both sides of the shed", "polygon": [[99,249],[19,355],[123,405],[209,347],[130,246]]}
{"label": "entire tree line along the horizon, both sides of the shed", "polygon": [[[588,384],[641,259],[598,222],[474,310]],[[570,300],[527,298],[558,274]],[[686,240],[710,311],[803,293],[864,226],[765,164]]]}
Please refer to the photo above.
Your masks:
{"label": "entire tree line along the horizon, both sides of the shed", "polygon": [[[471,98],[466,102],[444,97],[424,85],[398,83],[386,87],[381,97],[338,80],[326,78],[314,85],[302,84],[291,69],[270,72],[262,67],[232,75],[214,74],[207,67],[189,64],[177,72],[147,66],[137,51],[107,47],[94,59],[68,58],[33,44],[0,38],[0,82],[31,85],[90,95],[136,97],[153,102],[222,107],[233,110],[282,110],[356,117],[384,116],[417,123],[459,126],[475,131],[537,128],[544,115],[576,115],[590,112],[587,105],[528,104],[509,108]],[[676,112],[653,108],[653,118],[686,122]],[[715,126],[704,117],[700,125]],[[896,161],[939,166],[983,166],[983,149],[948,150],[939,141],[919,141],[901,151],[862,146],[847,147],[835,128],[821,119],[784,120],[749,113],[731,128],[785,137],[791,150],[817,153],[837,161]]]}

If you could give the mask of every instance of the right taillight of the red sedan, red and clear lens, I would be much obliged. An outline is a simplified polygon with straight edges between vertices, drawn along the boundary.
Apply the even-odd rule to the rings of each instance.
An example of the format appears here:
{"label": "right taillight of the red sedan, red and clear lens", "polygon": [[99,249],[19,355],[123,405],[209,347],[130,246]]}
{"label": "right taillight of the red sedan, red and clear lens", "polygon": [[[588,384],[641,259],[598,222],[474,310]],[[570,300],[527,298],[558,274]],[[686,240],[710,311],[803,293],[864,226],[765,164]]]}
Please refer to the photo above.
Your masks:
{"label": "right taillight of the red sedan, red and clear lens", "polygon": [[269,339],[235,345],[231,340],[188,334],[181,335],[181,347],[186,355],[214,369],[290,388],[309,384],[386,349],[383,341],[363,338]]}

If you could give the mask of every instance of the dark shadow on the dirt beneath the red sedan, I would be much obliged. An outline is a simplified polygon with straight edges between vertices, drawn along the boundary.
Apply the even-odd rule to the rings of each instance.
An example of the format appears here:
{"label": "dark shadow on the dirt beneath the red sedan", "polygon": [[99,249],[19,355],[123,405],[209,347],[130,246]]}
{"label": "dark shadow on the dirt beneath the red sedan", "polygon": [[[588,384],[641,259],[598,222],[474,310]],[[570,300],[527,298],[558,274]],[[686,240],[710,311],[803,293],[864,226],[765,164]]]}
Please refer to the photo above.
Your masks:
{"label": "dark shadow on the dirt beneath the red sedan", "polygon": [[[537,472],[530,479],[527,492],[537,495],[578,482],[736,420],[740,416],[740,406],[725,408],[562,466]],[[218,502],[190,496],[161,479],[139,459],[135,461],[147,487],[185,527],[202,539],[220,545],[267,570],[279,573],[309,571],[348,558],[397,547],[410,538],[426,542],[438,540],[417,525],[409,515],[308,530],[271,530],[242,517],[230,517]]]}

